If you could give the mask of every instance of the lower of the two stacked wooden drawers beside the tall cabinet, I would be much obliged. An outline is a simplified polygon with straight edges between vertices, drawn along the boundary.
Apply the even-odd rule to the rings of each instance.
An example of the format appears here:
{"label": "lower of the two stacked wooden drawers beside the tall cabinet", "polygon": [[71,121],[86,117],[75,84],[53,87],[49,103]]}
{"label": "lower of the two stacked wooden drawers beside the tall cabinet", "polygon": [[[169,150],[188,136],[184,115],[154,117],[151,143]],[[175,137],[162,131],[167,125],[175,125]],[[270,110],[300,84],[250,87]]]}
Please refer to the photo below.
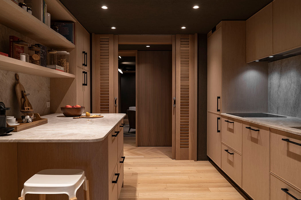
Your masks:
{"label": "lower of the two stacked wooden drawers beside the tall cabinet", "polygon": [[241,186],[241,155],[224,144],[222,144],[221,168],[237,185]]}

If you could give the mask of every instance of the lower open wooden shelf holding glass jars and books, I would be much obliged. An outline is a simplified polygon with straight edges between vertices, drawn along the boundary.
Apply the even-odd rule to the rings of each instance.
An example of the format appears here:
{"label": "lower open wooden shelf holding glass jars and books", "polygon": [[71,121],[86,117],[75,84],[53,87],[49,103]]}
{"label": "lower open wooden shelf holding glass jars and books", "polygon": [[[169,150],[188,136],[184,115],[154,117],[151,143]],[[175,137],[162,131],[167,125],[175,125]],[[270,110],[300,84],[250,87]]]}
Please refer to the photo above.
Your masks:
{"label": "lower open wooden shelf holding glass jars and books", "polygon": [[0,55],[0,69],[50,78],[75,78],[74,74],[57,71],[2,55]]}

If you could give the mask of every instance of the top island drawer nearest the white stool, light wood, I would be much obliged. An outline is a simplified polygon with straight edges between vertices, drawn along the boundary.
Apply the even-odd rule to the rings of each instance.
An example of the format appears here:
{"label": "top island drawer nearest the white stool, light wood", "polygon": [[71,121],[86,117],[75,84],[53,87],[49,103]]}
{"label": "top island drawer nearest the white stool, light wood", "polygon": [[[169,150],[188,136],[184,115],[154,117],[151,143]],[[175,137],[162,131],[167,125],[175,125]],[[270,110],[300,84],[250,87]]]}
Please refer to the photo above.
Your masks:
{"label": "top island drawer nearest the white stool, light wood", "polygon": [[114,137],[113,135],[116,135],[115,131],[112,131],[109,135],[108,135],[108,157],[109,157],[109,174],[112,174],[117,160],[118,160],[118,136]]}

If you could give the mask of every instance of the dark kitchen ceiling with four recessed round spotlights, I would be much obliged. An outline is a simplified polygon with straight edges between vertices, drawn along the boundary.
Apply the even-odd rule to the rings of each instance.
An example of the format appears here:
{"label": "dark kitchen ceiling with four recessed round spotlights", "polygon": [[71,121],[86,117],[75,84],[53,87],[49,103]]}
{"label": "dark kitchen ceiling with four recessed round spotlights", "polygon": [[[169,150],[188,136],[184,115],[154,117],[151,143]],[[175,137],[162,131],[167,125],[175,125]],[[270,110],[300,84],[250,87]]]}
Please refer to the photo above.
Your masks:
{"label": "dark kitchen ceiling with four recessed round spotlights", "polygon": [[61,0],[88,32],[120,35],[206,34],[221,20],[246,20],[271,1]]}

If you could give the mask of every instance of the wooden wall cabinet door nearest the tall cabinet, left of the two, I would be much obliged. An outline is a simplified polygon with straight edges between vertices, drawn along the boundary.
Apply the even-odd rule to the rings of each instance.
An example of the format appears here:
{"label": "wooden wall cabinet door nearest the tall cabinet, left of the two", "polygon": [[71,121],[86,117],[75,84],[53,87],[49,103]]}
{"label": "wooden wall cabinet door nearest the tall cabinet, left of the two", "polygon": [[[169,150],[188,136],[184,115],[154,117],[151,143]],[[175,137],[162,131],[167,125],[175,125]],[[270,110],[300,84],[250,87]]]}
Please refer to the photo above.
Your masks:
{"label": "wooden wall cabinet door nearest the tall cabinet, left of the two", "polygon": [[252,62],[273,54],[272,3],[246,21],[246,60]]}

